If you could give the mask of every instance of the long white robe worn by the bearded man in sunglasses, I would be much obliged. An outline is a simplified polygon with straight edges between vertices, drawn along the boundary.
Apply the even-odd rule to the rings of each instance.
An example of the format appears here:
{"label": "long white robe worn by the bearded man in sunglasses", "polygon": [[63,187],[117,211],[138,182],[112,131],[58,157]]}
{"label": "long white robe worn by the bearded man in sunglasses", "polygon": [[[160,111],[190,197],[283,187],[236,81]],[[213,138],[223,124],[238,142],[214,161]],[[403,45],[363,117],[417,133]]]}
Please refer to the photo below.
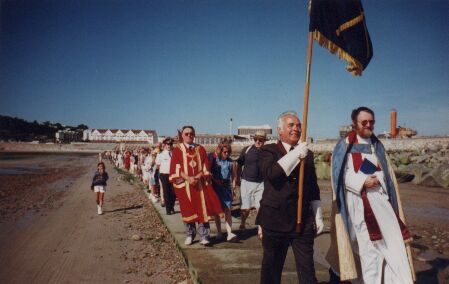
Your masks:
{"label": "long white robe worn by the bearded man in sunglasses", "polygon": [[[371,144],[368,139],[357,135],[359,144]],[[362,160],[368,159],[374,165],[377,157],[371,146],[372,154],[362,153]],[[413,283],[407,260],[404,240],[397,217],[388,202],[384,174],[374,173],[380,181],[380,186],[367,190],[368,200],[382,232],[382,239],[371,241],[366,227],[363,201],[360,192],[368,177],[366,174],[354,171],[352,155],[348,154],[345,168],[346,203],[349,217],[349,235],[353,250],[359,255],[362,267],[362,279],[353,283],[369,284],[409,284]],[[360,278],[360,277],[359,277]],[[382,281],[383,280],[383,281]]]}

